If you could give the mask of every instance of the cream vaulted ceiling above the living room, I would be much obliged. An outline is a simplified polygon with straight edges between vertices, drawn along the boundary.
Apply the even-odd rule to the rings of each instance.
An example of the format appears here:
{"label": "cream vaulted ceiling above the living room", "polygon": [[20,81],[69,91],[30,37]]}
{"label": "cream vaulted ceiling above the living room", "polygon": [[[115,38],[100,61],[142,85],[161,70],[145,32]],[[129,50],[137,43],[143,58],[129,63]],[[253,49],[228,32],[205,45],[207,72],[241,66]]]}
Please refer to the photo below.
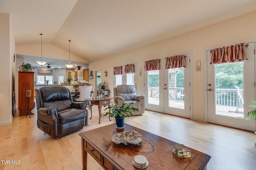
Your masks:
{"label": "cream vaulted ceiling above the living room", "polygon": [[255,0],[0,0],[16,46],[50,43],[89,62],[256,10]]}

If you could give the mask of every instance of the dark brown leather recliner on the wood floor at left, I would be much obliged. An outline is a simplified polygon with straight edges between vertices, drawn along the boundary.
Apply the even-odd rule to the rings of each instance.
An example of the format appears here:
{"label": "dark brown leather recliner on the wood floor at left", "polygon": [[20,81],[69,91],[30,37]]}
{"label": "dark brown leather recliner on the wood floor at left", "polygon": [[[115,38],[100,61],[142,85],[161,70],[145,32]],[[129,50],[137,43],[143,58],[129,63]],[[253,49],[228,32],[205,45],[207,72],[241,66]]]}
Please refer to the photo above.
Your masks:
{"label": "dark brown leather recliner on the wood floor at left", "polygon": [[86,102],[73,102],[68,88],[45,86],[36,89],[37,127],[58,139],[88,125]]}

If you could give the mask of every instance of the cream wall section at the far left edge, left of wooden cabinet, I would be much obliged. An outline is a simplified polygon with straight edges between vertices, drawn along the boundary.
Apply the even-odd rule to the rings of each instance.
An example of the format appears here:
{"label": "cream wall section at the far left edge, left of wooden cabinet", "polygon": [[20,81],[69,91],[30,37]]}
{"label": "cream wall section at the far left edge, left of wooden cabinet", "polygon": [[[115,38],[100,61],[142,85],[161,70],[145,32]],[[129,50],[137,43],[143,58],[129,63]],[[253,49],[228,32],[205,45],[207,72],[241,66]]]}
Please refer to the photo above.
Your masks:
{"label": "cream wall section at the far left edge, left of wooden cabinet", "polygon": [[0,125],[11,123],[12,121],[12,91],[14,90],[15,62],[15,42],[10,21],[10,14],[0,13],[0,67],[1,88],[0,88]]}

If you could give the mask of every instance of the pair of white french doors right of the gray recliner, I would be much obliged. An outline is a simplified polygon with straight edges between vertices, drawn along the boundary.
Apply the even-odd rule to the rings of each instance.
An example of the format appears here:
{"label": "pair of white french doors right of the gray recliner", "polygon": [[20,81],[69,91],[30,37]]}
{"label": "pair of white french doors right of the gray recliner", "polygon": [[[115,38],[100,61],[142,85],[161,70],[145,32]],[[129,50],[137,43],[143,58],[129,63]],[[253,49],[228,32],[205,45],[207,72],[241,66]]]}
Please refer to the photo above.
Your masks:
{"label": "pair of white french doors right of the gray recliner", "polygon": [[190,56],[185,53],[186,67],[145,71],[146,109],[190,118]]}

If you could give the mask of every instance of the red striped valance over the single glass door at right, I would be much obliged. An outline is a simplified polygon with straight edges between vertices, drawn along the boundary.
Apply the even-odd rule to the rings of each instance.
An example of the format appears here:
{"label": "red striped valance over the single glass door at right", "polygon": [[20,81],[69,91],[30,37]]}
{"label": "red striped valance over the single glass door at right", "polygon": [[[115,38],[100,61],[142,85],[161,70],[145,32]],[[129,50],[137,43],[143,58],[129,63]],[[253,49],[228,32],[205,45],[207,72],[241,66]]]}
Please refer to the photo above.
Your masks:
{"label": "red striped valance over the single glass door at right", "polygon": [[248,47],[248,43],[240,43],[228,47],[212,49],[210,51],[212,54],[210,64],[247,61],[246,47]]}

